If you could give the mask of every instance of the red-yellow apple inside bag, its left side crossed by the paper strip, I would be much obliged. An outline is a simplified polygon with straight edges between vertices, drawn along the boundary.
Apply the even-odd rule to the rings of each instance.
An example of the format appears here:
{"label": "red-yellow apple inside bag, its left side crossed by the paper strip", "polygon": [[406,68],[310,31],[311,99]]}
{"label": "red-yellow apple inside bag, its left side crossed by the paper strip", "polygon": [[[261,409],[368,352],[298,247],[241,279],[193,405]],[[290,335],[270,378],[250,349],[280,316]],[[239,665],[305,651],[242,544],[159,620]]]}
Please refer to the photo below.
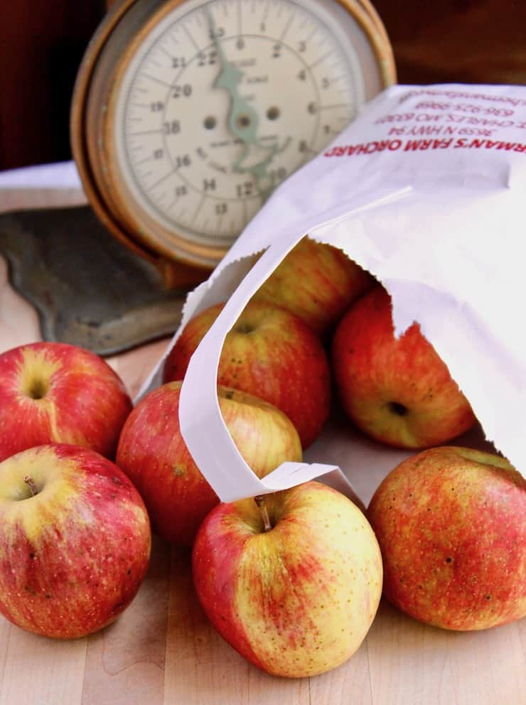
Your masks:
{"label": "red-yellow apple inside bag, its left side crossed by the paper strip", "polygon": [[[164,382],[183,379],[223,306],[210,306],[188,321],[166,357]],[[296,426],[303,448],[313,443],[328,418],[331,370],[323,345],[301,318],[269,303],[248,303],[227,334],[218,384],[281,409]]]}

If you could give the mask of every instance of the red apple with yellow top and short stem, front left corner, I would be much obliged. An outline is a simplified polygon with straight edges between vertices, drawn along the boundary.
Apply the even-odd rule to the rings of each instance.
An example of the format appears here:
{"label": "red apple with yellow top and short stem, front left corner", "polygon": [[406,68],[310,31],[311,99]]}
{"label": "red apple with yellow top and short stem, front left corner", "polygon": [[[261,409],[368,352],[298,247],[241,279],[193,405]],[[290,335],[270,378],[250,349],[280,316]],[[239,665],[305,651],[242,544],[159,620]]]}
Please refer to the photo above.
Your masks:
{"label": "red apple with yellow top and short stem, front left corner", "polygon": [[0,613],[73,639],[115,620],[146,574],[144,502],[117,465],[49,443],[0,463]]}

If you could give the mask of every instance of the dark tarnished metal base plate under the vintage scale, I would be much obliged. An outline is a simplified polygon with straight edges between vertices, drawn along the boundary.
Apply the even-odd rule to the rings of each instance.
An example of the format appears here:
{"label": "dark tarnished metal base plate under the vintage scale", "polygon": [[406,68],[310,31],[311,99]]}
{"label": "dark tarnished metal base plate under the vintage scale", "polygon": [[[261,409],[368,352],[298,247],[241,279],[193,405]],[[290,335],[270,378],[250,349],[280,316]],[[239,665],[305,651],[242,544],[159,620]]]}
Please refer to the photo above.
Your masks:
{"label": "dark tarnished metal base plate under the vintage scale", "polygon": [[11,286],[31,303],[44,340],[114,355],[171,335],[188,289],[109,235],[90,208],[0,215]]}

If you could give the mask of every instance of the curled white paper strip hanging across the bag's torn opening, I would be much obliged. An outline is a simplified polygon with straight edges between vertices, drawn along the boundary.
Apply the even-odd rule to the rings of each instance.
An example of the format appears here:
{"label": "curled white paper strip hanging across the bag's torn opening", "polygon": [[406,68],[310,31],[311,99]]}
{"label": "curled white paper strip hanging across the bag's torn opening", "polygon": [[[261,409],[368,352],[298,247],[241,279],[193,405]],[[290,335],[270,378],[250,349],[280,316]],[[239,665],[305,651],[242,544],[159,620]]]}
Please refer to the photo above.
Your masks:
{"label": "curled white paper strip hanging across the bag's torn opening", "polygon": [[[354,208],[346,210],[346,216],[379,208],[408,193],[407,188],[377,191],[368,198],[362,198],[361,203],[357,200]],[[260,480],[237,450],[219,407],[218,365],[227,333],[269,273],[276,269],[303,236],[304,230],[283,234],[262,254],[225,303],[195,350],[186,370],[179,399],[181,435],[196,465],[223,502],[285,490],[329,473],[333,473],[333,482],[326,480],[328,484],[337,484],[338,489],[345,489],[348,496],[357,499],[347,478],[335,465],[282,463]],[[308,393],[308,390],[305,391]],[[204,433],[203,429],[206,429]]]}

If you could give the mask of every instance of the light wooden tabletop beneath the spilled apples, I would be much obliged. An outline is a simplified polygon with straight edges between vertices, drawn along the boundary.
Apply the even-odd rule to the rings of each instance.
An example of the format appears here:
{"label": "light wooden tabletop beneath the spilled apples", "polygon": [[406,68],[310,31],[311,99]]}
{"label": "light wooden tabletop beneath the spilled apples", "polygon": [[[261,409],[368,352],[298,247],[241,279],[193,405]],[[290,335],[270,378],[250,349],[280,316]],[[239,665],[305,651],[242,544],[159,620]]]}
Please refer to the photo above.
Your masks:
{"label": "light wooden tabletop beneath the spilled apples", "polygon": [[[0,351],[39,338],[0,262]],[[132,396],[165,345],[109,359]],[[365,501],[378,481],[361,479]],[[271,677],[215,633],[195,598],[188,552],[157,538],[134,602],[100,633],[60,642],[0,617],[0,705],[525,705],[525,664],[526,620],[453,633],[382,603],[343,666],[311,679]]]}

